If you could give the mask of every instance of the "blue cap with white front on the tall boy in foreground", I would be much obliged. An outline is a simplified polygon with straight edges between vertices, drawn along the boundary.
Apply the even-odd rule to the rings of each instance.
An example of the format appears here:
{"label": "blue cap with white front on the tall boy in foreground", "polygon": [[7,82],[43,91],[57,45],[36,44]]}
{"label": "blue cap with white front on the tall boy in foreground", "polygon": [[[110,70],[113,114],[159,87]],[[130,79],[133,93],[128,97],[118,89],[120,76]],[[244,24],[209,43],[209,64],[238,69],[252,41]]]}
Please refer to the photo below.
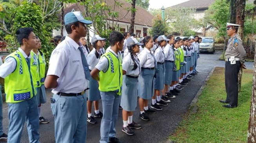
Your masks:
{"label": "blue cap with white front on the tall boy in foreground", "polygon": [[67,24],[69,24],[69,23],[76,22],[76,21],[85,23],[85,24],[87,24],[87,25],[93,23],[92,21],[85,20],[80,11],[70,12],[70,13],[67,13],[67,14],[64,16],[65,25],[67,25]]}

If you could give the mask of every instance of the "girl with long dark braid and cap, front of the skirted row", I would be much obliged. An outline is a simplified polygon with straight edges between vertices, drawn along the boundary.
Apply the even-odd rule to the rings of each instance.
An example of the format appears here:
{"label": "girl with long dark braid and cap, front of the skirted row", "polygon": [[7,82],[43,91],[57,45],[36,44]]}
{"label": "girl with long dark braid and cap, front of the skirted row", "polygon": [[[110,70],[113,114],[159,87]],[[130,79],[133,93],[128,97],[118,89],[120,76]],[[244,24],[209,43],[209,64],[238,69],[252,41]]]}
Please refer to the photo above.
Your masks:
{"label": "girl with long dark braid and cap, front of the skirted row", "polygon": [[142,125],[133,121],[133,111],[137,106],[137,94],[138,94],[138,77],[141,73],[140,62],[137,57],[137,53],[140,52],[139,46],[143,45],[139,43],[135,38],[127,38],[127,49],[129,54],[123,58],[123,86],[122,86],[122,98],[121,107],[123,108],[123,127],[122,131],[128,135],[133,135],[134,129],[140,129]]}

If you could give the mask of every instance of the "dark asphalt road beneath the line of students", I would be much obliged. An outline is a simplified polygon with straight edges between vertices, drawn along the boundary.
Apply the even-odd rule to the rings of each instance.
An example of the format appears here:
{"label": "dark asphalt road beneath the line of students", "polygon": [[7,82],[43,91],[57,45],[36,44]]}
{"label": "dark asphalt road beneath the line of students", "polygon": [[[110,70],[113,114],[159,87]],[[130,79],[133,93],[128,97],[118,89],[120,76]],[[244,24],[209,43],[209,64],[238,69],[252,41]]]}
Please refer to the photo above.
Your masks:
{"label": "dark asphalt road beneath the line of students", "polygon": [[[186,113],[189,104],[195,97],[197,91],[202,86],[204,80],[214,66],[225,66],[224,61],[218,61],[221,52],[214,54],[200,54],[198,60],[198,75],[194,77],[188,86],[186,86],[181,94],[171,100],[171,103],[163,107],[162,111],[157,111],[156,114],[149,115],[151,121],[146,122],[138,118],[138,107],[134,112],[133,120],[143,125],[142,129],[135,130],[133,136],[128,136],[122,132],[122,110],[119,111],[118,122],[116,125],[117,137],[123,143],[160,143],[170,136],[178,123],[182,120],[182,115]],[[247,68],[252,69],[253,63],[246,63]],[[42,105],[42,115],[50,120],[49,124],[40,125],[40,141],[41,143],[54,143],[54,117],[51,113],[49,98],[52,96],[50,91],[47,91],[47,103]],[[100,107],[100,110],[102,107]],[[102,111],[102,110],[101,110]],[[8,111],[7,104],[3,105],[4,114],[4,131],[8,130]],[[87,143],[98,143],[100,139],[100,119],[98,123],[88,124],[87,127]],[[24,126],[22,133],[22,143],[28,143],[27,129]],[[0,142],[4,143],[4,142]]]}

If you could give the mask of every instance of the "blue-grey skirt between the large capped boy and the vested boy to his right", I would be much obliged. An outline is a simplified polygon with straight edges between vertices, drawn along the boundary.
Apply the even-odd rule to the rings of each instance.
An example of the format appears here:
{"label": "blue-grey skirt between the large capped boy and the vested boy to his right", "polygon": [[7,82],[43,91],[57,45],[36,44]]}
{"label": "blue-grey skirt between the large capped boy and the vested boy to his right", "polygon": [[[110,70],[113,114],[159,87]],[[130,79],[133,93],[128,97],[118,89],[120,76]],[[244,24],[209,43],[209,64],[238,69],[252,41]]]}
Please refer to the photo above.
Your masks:
{"label": "blue-grey skirt between the large capped boy and the vested boy to his right", "polygon": [[88,100],[89,101],[97,101],[100,100],[100,90],[98,81],[93,79],[92,77],[89,80],[88,85]]}

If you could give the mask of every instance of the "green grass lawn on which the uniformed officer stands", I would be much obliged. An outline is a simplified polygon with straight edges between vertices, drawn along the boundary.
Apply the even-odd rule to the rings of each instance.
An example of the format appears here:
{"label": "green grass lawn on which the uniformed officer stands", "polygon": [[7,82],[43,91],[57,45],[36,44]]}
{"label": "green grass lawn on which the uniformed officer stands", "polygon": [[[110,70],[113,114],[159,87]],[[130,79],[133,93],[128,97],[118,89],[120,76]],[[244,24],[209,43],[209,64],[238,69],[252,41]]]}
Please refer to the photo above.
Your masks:
{"label": "green grass lawn on which the uniformed officer stands", "polygon": [[224,68],[215,68],[198,102],[198,112],[184,116],[169,139],[175,143],[245,143],[251,107],[252,70],[243,70],[238,107],[222,107]]}

